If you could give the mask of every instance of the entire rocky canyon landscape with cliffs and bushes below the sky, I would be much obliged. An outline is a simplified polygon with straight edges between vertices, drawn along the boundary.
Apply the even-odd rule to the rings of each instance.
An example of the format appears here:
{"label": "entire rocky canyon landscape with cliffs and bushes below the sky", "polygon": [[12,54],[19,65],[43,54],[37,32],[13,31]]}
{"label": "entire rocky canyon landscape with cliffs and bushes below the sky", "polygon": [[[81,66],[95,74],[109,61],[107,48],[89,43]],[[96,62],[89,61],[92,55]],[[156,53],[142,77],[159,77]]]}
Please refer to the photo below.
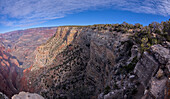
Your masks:
{"label": "entire rocky canyon landscape with cliffs and bushes below the sky", "polygon": [[7,87],[0,91],[8,97],[27,91],[45,99],[168,99],[169,27],[167,21],[2,34],[0,85]]}

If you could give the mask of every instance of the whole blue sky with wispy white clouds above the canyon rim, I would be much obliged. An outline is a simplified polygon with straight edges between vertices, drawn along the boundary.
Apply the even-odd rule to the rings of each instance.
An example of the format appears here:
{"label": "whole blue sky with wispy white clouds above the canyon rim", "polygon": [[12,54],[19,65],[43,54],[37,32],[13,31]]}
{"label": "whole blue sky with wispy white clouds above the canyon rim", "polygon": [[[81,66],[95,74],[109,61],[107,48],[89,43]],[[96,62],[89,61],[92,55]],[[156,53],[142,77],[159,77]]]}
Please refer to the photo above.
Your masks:
{"label": "whole blue sky with wispy white clouds above the canyon rim", "polygon": [[0,0],[0,33],[63,25],[148,25],[169,18],[170,0]]}

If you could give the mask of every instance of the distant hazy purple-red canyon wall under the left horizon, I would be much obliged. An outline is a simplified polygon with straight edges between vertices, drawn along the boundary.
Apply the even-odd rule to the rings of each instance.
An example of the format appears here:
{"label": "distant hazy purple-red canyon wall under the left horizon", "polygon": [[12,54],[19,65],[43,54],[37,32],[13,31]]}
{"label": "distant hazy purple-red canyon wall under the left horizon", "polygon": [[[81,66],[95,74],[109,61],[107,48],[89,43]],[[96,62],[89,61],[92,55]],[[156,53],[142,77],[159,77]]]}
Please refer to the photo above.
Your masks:
{"label": "distant hazy purple-red canyon wall under the left horizon", "polygon": [[1,44],[8,52],[20,61],[20,67],[28,68],[33,65],[34,50],[46,42],[54,33],[53,28],[35,28],[0,34]]}

